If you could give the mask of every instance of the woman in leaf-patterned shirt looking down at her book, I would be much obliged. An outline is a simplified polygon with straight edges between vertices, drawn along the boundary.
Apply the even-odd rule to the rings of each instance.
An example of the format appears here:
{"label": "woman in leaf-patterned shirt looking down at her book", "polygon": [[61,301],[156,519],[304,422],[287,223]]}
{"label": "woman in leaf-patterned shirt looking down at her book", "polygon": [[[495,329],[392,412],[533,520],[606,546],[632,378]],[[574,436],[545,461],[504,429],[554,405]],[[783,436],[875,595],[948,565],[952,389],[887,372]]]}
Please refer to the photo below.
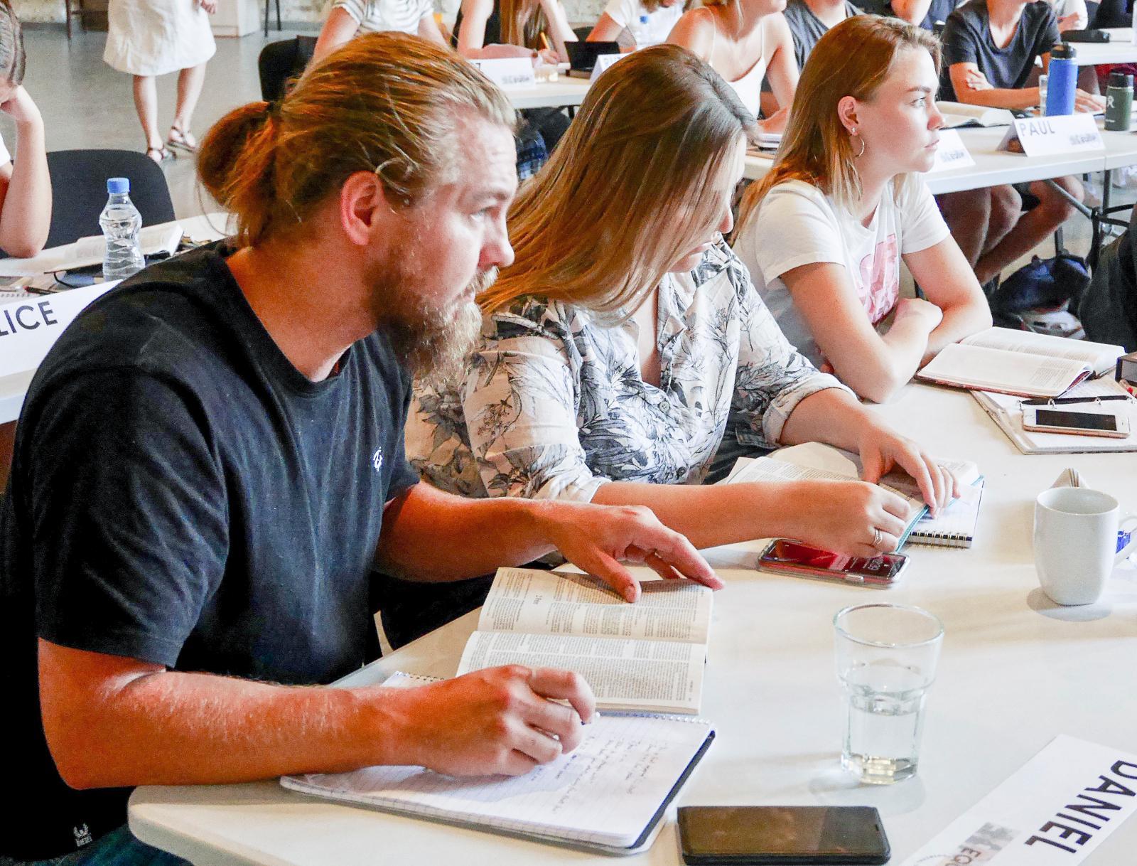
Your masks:
{"label": "woman in leaf-patterned shirt looking down at her book", "polygon": [[646,505],[698,547],[894,550],[902,504],[873,484],[700,485],[716,455],[813,440],[869,481],[904,467],[933,506],[954,481],[794,350],[723,242],[754,126],[735,92],[675,46],[619,69],[522,188],[465,381],[417,391],[413,465],[466,495]]}

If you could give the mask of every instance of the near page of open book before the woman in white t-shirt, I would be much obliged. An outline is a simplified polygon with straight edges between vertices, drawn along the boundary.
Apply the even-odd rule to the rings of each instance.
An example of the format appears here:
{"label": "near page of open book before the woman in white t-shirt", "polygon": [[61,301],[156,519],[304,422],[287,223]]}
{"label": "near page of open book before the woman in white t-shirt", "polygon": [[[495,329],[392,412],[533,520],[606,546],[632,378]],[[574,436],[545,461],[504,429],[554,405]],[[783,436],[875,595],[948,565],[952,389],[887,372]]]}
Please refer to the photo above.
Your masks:
{"label": "near page of open book before the woman in white t-shirt", "polygon": [[945,346],[918,379],[1028,397],[1056,397],[1089,372],[1089,364],[981,346]]}

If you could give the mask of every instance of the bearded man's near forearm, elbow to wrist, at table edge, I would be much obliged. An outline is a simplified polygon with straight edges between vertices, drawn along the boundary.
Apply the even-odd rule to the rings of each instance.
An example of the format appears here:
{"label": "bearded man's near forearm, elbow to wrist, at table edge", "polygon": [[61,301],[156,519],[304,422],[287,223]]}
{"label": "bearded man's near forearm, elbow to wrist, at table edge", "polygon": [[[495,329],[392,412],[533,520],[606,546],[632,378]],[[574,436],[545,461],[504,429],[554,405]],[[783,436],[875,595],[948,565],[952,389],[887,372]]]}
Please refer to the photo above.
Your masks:
{"label": "bearded man's near forearm, elbow to wrist, at table edge", "polygon": [[[77,650],[40,642],[43,653]],[[83,653],[83,655],[93,655]],[[291,773],[416,762],[398,690],[280,686],[157,669],[123,659],[97,695],[41,683],[44,731],[73,787],[225,784]],[[41,663],[41,671],[64,666]],[[82,676],[82,663],[69,667]]]}

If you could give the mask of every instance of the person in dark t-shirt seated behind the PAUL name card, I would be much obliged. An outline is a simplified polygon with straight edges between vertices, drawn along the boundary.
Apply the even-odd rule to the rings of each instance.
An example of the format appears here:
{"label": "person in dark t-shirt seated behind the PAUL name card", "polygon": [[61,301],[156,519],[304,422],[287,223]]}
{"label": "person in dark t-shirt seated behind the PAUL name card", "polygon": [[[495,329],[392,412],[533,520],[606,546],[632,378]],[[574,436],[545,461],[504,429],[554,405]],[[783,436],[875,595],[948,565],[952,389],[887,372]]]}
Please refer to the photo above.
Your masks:
{"label": "person in dark t-shirt seated behind the PAUL name card", "polygon": [[[995,108],[1037,106],[1038,88],[1028,86],[1035,59],[1040,57],[1045,69],[1057,41],[1057,18],[1046,2],[971,0],[948,16],[944,28],[940,97]],[[1103,108],[1101,97],[1078,91],[1077,110]],[[1053,184],[1081,200],[1076,178],[1055,178]],[[1020,216],[1021,195],[1028,191],[1038,204]],[[938,200],[980,283],[1029,254],[1073,214],[1073,207],[1047,181],[1021,190],[1004,184],[953,192]]]}

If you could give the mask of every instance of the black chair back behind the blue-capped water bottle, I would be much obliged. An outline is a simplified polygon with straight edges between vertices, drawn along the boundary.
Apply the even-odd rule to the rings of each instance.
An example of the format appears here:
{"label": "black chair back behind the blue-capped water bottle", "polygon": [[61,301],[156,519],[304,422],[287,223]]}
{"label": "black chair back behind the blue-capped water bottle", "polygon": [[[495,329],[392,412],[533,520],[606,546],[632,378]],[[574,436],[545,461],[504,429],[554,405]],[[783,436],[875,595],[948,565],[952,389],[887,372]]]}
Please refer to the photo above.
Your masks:
{"label": "black chair back behind the blue-capped water bottle", "polygon": [[134,150],[55,150],[48,154],[51,175],[49,247],[99,234],[99,214],[107,206],[107,179],[127,178],[131,201],[143,225],[174,220],[174,203],[161,167]]}

